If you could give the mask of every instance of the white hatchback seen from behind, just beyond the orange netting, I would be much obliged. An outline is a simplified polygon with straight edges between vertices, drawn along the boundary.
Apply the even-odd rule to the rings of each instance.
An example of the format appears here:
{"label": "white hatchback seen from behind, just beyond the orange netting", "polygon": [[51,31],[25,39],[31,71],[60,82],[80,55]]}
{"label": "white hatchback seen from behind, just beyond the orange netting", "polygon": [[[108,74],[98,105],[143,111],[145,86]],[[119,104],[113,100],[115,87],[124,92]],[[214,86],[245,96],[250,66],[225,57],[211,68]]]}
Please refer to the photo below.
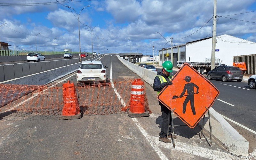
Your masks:
{"label": "white hatchback seen from behind, just beyond the orange netting", "polygon": [[106,81],[106,68],[108,67],[104,67],[101,61],[82,62],[76,73],[77,84]]}

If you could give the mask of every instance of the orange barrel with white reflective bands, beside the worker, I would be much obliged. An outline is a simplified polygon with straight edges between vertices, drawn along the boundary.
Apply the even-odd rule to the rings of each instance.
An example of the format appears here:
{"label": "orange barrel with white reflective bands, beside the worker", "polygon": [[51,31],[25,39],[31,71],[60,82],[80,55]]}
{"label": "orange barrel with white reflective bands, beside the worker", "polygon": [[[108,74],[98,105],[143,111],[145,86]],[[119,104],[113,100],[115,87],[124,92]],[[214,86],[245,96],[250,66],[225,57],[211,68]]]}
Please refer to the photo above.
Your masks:
{"label": "orange barrel with white reflective bands, beside the worker", "polygon": [[145,89],[141,79],[135,79],[132,82],[130,109],[127,109],[126,112],[129,117],[149,116],[149,111],[145,110]]}

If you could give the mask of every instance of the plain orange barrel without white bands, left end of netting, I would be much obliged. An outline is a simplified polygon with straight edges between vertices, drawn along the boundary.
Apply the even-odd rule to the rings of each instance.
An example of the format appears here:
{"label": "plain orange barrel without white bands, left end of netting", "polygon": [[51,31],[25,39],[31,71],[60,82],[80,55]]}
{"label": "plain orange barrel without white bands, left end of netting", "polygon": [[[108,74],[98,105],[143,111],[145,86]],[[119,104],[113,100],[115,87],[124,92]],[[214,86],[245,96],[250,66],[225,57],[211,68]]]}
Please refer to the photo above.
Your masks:
{"label": "plain orange barrel without white bands, left end of netting", "polygon": [[75,84],[67,83],[63,84],[63,100],[64,106],[62,109],[62,116],[59,116],[60,120],[65,119],[78,119],[82,117],[82,112],[80,111]]}

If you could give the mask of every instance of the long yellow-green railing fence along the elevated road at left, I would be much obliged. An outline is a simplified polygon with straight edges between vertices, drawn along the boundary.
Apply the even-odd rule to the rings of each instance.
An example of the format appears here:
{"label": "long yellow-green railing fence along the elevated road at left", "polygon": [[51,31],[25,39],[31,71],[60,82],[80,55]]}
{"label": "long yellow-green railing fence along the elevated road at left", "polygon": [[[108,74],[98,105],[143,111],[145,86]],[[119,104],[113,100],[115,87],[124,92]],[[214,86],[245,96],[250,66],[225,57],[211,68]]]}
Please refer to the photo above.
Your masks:
{"label": "long yellow-green railing fence along the elevated road at left", "polygon": [[[65,54],[67,52],[53,52],[53,51],[13,51],[13,50],[0,50],[1,56],[26,56],[28,53],[41,53],[43,55]],[[68,52],[71,54],[79,54],[80,52]],[[92,54],[87,52],[88,54]]]}

